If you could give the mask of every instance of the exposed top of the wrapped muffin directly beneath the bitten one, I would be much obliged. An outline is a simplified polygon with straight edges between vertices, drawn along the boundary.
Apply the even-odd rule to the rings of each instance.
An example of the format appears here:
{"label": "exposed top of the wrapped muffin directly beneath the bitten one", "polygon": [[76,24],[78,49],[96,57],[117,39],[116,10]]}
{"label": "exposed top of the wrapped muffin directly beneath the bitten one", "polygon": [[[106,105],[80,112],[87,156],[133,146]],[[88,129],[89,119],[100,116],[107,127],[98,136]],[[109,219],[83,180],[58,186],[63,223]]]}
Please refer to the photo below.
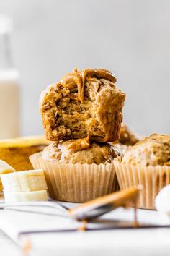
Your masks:
{"label": "exposed top of the wrapped muffin directly beneath the bitten one", "polygon": [[107,143],[92,142],[87,139],[53,142],[42,151],[42,158],[59,163],[111,163],[120,155],[119,150]]}

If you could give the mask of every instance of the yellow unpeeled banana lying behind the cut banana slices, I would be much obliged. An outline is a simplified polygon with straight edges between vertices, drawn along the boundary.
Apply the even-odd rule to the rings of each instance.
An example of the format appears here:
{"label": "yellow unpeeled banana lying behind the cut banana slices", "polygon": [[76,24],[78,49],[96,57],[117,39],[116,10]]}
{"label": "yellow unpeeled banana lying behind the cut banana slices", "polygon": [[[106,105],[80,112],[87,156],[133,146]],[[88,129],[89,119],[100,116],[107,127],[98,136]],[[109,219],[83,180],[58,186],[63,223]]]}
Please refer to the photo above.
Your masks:
{"label": "yellow unpeeled banana lying behind the cut banana slices", "polygon": [[0,140],[0,159],[16,171],[31,170],[29,156],[42,151],[49,142],[43,136]]}

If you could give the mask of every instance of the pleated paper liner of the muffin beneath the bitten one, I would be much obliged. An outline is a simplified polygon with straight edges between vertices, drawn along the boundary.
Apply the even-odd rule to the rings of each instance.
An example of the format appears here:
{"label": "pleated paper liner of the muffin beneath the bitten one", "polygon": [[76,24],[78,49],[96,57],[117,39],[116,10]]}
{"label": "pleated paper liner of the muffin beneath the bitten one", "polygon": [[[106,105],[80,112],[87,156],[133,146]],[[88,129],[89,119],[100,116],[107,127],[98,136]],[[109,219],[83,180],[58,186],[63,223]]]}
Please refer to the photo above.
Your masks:
{"label": "pleated paper liner of the muffin beneath the bitten one", "polygon": [[71,164],[45,161],[41,153],[30,156],[34,168],[42,168],[50,197],[66,202],[86,202],[114,192],[117,178],[113,163]]}

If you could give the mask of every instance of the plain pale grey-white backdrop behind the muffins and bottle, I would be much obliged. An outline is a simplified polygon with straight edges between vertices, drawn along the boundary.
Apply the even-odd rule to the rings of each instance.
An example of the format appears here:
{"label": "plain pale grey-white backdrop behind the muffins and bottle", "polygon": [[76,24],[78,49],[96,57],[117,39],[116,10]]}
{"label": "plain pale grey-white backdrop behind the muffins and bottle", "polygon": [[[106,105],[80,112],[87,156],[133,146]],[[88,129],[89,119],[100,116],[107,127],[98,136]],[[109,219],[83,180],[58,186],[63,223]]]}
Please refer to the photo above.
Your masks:
{"label": "plain pale grey-white backdrop behind the muffins and bottle", "polygon": [[124,121],[170,133],[169,0],[0,0],[14,20],[22,135],[42,133],[40,92],[74,67],[111,69],[127,93]]}

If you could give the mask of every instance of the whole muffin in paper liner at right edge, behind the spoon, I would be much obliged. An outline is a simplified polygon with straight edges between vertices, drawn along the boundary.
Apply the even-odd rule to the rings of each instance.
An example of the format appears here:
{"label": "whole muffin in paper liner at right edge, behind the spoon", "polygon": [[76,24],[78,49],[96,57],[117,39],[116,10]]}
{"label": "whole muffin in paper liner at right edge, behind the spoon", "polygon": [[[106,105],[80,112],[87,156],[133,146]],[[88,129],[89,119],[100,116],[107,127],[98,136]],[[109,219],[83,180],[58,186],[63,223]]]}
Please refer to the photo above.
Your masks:
{"label": "whole muffin in paper liner at right edge, behind the spoon", "polygon": [[170,183],[170,135],[153,134],[114,161],[120,189],[143,185],[138,208],[155,209],[155,197]]}

